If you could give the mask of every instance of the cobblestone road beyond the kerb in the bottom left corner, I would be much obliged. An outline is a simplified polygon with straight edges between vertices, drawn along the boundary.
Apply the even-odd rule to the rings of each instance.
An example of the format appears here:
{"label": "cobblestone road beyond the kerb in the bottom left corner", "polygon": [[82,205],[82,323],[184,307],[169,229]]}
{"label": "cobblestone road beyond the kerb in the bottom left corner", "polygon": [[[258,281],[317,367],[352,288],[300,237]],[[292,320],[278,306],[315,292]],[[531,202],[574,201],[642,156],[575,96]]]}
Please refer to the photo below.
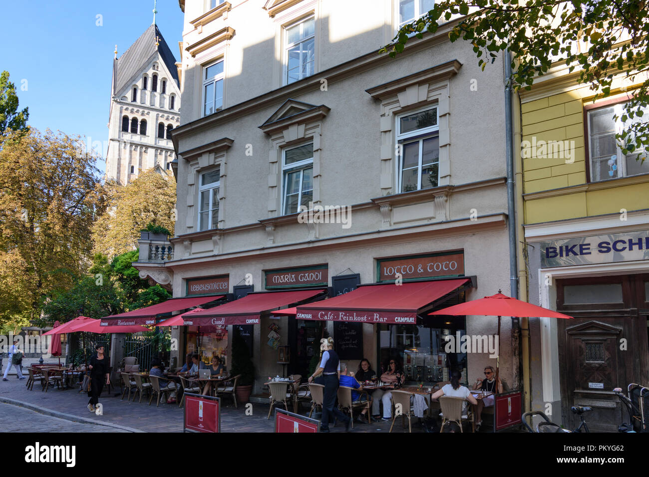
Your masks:
{"label": "cobblestone road beyond the kerb in the bottom left corner", "polygon": [[127,432],[98,424],[58,419],[36,411],[0,402],[2,432]]}

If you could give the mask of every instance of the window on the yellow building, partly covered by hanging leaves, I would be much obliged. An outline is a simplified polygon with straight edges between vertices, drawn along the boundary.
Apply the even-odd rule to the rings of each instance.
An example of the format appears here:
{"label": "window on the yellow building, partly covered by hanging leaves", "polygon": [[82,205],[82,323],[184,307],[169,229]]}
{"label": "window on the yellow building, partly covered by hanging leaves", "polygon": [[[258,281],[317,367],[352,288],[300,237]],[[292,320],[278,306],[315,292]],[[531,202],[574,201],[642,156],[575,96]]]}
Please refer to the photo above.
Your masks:
{"label": "window on the yellow building, partly covered by hanging leaves", "polygon": [[[622,149],[617,145],[615,134],[630,127],[635,121],[641,121],[641,117],[628,119],[622,122],[624,114],[624,103],[611,104],[602,108],[588,110],[587,112],[587,142],[589,152],[589,167],[591,169],[591,182],[612,179],[617,177],[628,177],[638,174],[649,173],[649,166],[646,162],[635,160],[638,154],[647,156],[647,151],[636,149],[633,153],[622,154]],[[649,114],[649,108],[643,108],[643,117]],[[613,116],[618,117],[617,121]],[[642,156],[641,156],[642,157]]]}

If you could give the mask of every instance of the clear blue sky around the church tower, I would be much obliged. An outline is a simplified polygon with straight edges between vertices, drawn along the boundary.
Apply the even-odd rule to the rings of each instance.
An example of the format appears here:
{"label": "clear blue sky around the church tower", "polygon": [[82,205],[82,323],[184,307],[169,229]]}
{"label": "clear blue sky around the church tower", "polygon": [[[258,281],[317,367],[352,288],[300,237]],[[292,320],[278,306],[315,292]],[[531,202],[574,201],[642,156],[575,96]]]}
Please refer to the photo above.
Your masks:
{"label": "clear blue sky around the church tower", "polygon": [[[158,28],[180,60],[178,0],[158,0],[156,8]],[[105,151],[115,45],[120,56],[151,25],[153,0],[9,0],[2,10],[0,71],[16,84],[19,109],[29,106],[29,125],[101,141]],[[97,164],[102,175],[105,166]]]}

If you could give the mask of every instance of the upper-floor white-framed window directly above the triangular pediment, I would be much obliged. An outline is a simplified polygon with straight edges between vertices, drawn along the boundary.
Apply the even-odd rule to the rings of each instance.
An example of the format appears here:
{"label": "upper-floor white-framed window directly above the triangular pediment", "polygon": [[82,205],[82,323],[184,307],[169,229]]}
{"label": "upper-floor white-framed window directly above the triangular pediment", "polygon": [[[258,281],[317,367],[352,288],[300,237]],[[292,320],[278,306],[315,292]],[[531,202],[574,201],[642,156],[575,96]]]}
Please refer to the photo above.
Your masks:
{"label": "upper-floor white-framed window directly above the triangular pediment", "polygon": [[315,73],[315,18],[293,23],[284,29],[284,84]]}

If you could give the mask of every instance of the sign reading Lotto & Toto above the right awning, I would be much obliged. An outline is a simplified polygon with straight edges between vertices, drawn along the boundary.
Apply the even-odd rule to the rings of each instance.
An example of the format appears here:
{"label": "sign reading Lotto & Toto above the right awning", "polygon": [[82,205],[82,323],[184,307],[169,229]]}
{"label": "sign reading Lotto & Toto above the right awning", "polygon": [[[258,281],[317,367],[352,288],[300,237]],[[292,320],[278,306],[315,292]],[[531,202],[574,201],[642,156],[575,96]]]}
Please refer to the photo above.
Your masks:
{"label": "sign reading Lotto & Toto above the right awning", "polygon": [[[464,275],[464,251],[377,260],[378,281]],[[399,277],[400,275],[400,277]]]}

